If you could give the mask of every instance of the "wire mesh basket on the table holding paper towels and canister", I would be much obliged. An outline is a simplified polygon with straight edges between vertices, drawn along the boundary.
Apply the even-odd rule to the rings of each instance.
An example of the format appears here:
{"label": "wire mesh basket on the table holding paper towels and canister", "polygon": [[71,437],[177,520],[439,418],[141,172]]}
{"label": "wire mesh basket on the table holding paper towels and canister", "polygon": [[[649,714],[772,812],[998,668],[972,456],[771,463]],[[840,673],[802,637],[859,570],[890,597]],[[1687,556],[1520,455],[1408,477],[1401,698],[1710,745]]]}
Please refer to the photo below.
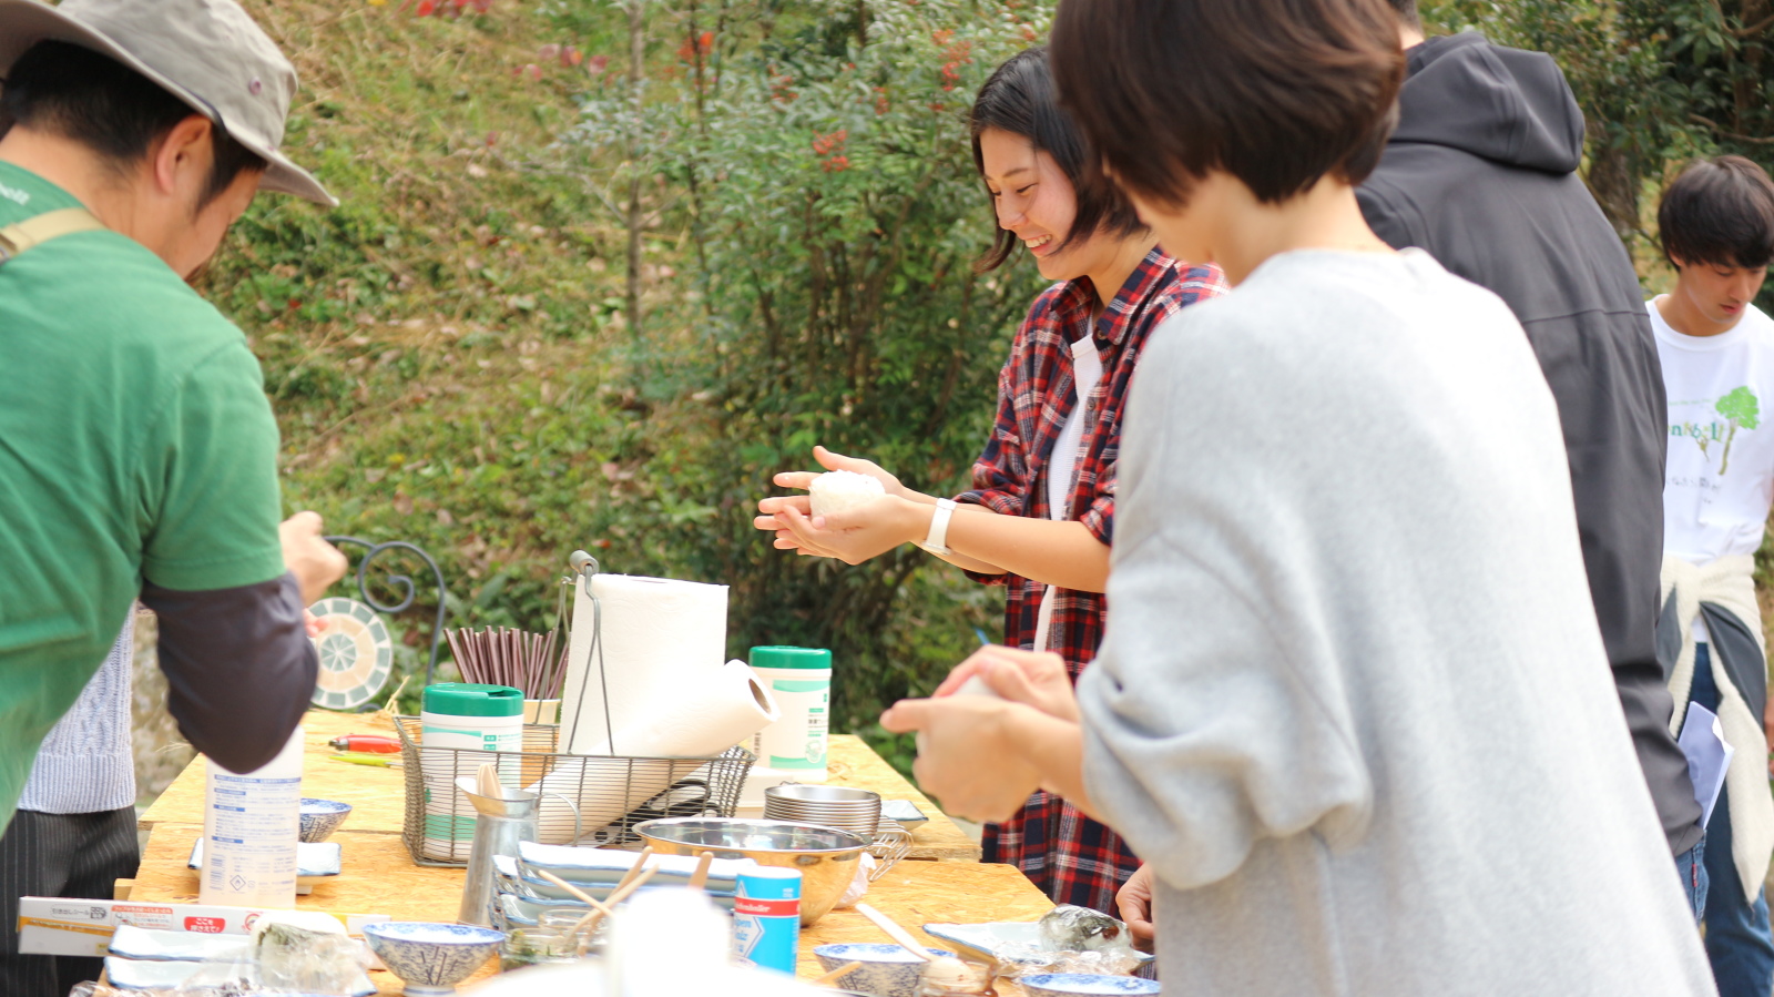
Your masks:
{"label": "wire mesh basket on the table holding paper towels and canister", "polygon": [[536,837],[545,844],[624,846],[633,825],[655,818],[731,818],[756,756],[733,747],[718,758],[561,754],[561,727],[525,724],[523,750],[428,749],[419,717],[396,717],[406,775],[401,841],[420,866],[467,866],[474,805],[456,781],[491,763],[498,782],[541,793]]}

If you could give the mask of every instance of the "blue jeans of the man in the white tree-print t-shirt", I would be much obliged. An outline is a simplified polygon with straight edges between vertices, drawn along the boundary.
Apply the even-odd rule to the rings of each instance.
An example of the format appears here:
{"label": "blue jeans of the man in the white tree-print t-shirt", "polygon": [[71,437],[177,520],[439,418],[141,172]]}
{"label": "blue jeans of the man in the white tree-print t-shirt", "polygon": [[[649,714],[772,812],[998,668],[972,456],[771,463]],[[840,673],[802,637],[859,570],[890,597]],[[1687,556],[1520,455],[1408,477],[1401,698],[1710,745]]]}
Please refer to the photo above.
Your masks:
{"label": "blue jeans of the man in the white tree-print t-shirt", "polygon": [[[1712,681],[1710,648],[1694,653],[1692,703],[1717,713],[1719,687]],[[1719,805],[1707,823],[1707,958],[1719,997],[1769,997],[1774,992],[1774,937],[1769,935],[1767,891],[1751,903],[1742,876],[1731,862],[1731,800],[1719,793]]]}

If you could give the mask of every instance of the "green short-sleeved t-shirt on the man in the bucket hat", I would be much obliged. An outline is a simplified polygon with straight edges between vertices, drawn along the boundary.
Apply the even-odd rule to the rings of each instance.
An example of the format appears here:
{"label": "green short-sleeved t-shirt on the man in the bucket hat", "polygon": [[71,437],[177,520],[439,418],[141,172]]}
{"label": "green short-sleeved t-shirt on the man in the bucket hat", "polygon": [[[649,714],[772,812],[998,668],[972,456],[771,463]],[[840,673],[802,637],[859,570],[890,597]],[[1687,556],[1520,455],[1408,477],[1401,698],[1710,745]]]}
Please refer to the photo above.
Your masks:
{"label": "green short-sleeved t-shirt on the man in the bucket hat", "polygon": [[[0,163],[0,227],[75,206]],[[140,243],[75,232],[0,264],[0,828],[144,580],[284,573],[277,447],[247,337]]]}

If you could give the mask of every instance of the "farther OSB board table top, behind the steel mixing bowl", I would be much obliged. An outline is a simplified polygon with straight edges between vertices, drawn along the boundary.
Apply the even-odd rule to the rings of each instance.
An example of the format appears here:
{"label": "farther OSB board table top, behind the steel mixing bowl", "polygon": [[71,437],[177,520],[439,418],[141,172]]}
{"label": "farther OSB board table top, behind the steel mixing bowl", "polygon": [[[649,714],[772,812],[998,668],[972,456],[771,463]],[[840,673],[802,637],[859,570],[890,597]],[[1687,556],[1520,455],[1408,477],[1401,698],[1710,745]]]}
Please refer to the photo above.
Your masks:
{"label": "farther OSB board table top, behind the steel mixing bowl", "polygon": [[[399,834],[406,820],[406,789],[401,770],[332,761],[328,756],[334,754],[334,749],[326,745],[328,740],[342,734],[392,738],[396,736],[394,726],[378,722],[373,713],[312,710],[303,717],[302,727],[305,734],[302,795],[351,804],[351,816],[346,818],[339,834]],[[834,734],[828,758],[828,782],[832,786],[873,789],[883,800],[910,800],[924,811],[930,821],[912,832],[910,859],[979,860],[979,844],[967,837],[947,814],[907,782],[882,756],[862,743],[862,738]],[[202,756],[184,766],[184,772],[154,800],[154,805],[147,807],[138,823],[144,828],[153,828],[156,823],[204,823]]]}

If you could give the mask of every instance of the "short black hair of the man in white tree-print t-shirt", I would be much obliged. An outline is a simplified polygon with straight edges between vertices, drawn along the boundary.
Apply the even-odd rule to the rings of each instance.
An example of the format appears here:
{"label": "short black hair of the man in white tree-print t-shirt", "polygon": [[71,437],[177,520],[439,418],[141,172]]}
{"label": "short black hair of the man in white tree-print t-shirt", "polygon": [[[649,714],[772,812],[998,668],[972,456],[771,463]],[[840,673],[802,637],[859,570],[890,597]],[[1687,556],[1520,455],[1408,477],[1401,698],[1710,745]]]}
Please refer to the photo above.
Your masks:
{"label": "short black hair of the man in white tree-print t-shirt", "polygon": [[1742,156],[1689,163],[1657,206],[1657,238],[1669,263],[1767,266],[1774,259],[1774,181]]}

